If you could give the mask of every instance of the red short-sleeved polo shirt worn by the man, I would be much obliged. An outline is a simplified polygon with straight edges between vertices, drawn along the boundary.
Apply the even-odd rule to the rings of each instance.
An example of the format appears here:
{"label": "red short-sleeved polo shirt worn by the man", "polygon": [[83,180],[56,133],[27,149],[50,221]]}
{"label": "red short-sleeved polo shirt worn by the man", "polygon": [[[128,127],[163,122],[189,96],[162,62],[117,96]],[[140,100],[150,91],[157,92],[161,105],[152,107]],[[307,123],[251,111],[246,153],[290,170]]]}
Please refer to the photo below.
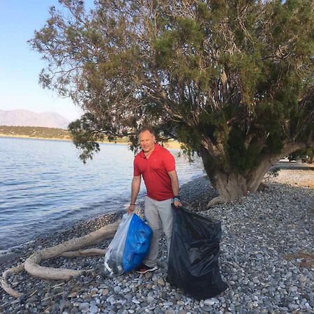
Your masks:
{"label": "red short-sleeved polo shirt worn by the man", "polygon": [[168,172],[175,168],[174,157],[159,144],[155,145],[148,159],[144,151],[140,151],[134,158],[134,176],[142,174],[147,196],[153,200],[169,200],[174,196]]}

